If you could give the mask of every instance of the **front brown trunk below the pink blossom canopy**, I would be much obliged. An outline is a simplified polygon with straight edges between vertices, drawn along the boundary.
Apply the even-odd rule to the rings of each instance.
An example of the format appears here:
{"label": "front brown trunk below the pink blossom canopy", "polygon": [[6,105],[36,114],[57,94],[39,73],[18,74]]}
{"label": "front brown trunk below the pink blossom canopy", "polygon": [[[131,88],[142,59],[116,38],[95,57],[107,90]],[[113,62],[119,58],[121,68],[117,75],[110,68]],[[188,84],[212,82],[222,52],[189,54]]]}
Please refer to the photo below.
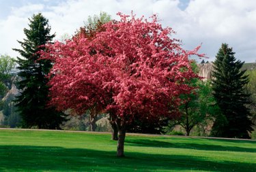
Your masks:
{"label": "front brown trunk below the pink blossom canopy", "polygon": [[117,141],[117,157],[124,157],[124,139],[126,138],[126,125],[124,120],[117,119],[118,141]]}

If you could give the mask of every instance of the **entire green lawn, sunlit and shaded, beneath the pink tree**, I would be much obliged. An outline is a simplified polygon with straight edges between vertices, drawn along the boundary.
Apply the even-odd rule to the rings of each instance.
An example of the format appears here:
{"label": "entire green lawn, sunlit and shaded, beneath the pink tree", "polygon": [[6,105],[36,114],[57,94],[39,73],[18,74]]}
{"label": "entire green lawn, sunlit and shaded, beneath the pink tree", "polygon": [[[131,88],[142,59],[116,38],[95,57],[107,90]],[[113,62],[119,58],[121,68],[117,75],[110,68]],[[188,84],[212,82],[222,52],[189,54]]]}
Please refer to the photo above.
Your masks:
{"label": "entire green lawn, sunlit and shaded, beneath the pink tree", "polygon": [[0,130],[0,171],[256,171],[256,141]]}

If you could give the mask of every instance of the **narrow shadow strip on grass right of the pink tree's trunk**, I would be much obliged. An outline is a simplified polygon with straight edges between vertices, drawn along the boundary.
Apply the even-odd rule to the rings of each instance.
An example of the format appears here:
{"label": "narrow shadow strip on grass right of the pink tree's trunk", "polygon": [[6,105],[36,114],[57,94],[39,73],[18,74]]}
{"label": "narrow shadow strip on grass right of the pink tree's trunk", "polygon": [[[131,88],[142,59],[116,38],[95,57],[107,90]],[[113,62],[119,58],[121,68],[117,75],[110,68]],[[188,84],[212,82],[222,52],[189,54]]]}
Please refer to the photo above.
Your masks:
{"label": "narrow shadow strip on grass right of the pink tree's trunk", "polygon": [[[224,141],[224,140],[223,140]],[[255,148],[242,148],[238,146],[210,145],[200,143],[171,143],[170,141],[155,141],[150,139],[126,139],[126,143],[132,143],[137,146],[160,147],[160,148],[183,148],[193,150],[212,150],[212,151],[232,151],[232,152],[256,152]],[[248,143],[248,142],[247,142]]]}

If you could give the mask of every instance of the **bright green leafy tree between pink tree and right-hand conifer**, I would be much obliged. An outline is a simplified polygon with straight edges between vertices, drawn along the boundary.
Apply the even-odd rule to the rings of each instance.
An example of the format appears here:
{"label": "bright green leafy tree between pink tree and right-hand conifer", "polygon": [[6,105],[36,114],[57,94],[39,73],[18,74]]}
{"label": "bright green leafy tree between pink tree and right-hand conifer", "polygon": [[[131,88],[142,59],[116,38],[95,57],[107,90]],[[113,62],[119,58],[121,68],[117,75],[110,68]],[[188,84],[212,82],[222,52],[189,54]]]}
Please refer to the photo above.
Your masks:
{"label": "bright green leafy tree between pink tree and right-hand conifer", "polygon": [[186,135],[198,124],[208,125],[215,114],[218,114],[218,106],[212,96],[210,82],[195,80],[192,85],[197,86],[195,92],[183,94],[184,103],[180,106],[181,117],[176,124],[180,124]]}

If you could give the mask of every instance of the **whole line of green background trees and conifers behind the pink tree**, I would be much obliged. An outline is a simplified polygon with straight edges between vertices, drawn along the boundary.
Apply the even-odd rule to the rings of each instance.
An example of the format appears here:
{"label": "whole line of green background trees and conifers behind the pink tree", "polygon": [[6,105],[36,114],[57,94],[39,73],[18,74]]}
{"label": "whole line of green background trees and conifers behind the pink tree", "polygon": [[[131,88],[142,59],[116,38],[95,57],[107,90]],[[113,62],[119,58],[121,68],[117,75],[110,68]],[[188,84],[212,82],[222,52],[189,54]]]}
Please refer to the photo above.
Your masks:
{"label": "whole line of green background trees and conifers behind the pink tree", "polygon": [[[94,37],[96,33],[104,30],[102,24],[109,21],[111,16],[106,13],[89,16],[85,26],[72,37]],[[1,101],[1,110],[5,116],[2,125],[111,131],[109,114],[88,109],[83,116],[76,116],[70,109],[60,113],[53,107],[48,107],[46,74],[51,70],[52,63],[38,60],[40,55],[37,52],[45,50],[42,45],[51,43],[55,35],[51,35],[51,27],[42,14],[33,15],[29,19],[29,29],[24,29],[24,32],[27,38],[19,41],[22,49],[14,49],[21,57],[17,60],[10,56],[0,58],[1,100],[12,88],[12,84],[20,90],[17,96],[11,95]],[[198,73],[195,64],[191,65],[194,66],[195,73]],[[188,83],[197,86],[195,92],[180,95],[183,99],[179,108],[180,118],[159,118],[157,122],[134,119],[127,130],[137,133],[174,133],[173,128],[179,124],[185,131],[181,130],[180,134],[190,135],[193,131],[193,135],[249,138],[256,120],[256,70],[242,71],[243,65],[244,63],[236,61],[232,49],[223,44],[214,62],[214,79],[208,82],[195,79]],[[99,121],[100,119],[102,120]],[[212,131],[205,133],[205,128],[211,126]]]}

